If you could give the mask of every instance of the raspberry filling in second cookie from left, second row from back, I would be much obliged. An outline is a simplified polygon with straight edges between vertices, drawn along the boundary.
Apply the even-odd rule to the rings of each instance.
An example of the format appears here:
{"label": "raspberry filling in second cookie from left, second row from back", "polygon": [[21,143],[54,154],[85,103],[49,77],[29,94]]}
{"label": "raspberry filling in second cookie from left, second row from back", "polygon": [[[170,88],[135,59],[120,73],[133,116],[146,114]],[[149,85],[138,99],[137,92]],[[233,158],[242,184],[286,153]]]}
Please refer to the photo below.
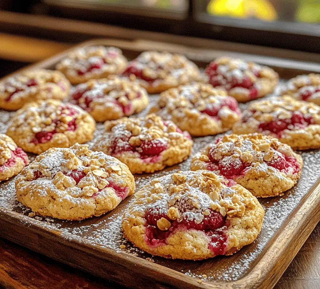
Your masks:
{"label": "raspberry filling in second cookie from left, second row from back", "polygon": [[[86,92],[90,92],[89,88],[87,88],[87,87],[83,88],[81,86],[78,86],[76,88],[75,92],[72,94],[72,99],[73,99],[72,103],[80,106],[85,111],[92,111],[92,107],[90,107],[90,103],[92,103],[92,101],[94,99],[103,98],[103,97],[107,96],[102,91],[100,91],[99,93],[95,93],[95,94],[86,93]],[[128,98],[128,95],[126,94],[125,97]],[[140,97],[141,97],[141,93],[138,92],[137,98],[140,98]],[[80,103],[80,98],[84,98],[84,103]],[[124,115],[131,115],[133,113],[132,101],[130,101],[129,98],[128,98],[128,104],[126,104],[126,105],[118,102],[113,97],[108,97],[106,102],[108,102],[108,101],[118,105],[122,109]]]}

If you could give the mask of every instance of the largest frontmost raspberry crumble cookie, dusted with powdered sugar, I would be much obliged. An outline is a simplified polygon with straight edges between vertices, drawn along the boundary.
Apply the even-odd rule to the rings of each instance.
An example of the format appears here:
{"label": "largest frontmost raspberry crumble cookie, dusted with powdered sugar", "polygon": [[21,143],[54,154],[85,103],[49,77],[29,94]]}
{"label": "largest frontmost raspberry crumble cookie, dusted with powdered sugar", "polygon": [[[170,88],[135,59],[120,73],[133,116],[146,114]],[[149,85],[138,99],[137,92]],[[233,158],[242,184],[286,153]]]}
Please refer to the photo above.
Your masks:
{"label": "largest frontmost raspberry crumble cookie, dusted with powdered sugar", "polygon": [[211,171],[180,171],[153,179],[124,213],[124,237],[166,258],[231,255],[260,233],[264,210],[233,180]]}

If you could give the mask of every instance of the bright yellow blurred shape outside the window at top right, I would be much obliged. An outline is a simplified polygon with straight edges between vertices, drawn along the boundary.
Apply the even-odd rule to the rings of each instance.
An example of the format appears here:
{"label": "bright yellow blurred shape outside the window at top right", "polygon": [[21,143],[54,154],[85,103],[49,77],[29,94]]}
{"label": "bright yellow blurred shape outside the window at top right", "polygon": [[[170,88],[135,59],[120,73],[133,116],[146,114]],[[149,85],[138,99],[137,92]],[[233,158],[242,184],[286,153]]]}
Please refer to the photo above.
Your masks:
{"label": "bright yellow blurred shape outside the window at top right", "polygon": [[211,0],[207,11],[212,15],[236,18],[256,17],[274,21],[277,12],[268,0]]}

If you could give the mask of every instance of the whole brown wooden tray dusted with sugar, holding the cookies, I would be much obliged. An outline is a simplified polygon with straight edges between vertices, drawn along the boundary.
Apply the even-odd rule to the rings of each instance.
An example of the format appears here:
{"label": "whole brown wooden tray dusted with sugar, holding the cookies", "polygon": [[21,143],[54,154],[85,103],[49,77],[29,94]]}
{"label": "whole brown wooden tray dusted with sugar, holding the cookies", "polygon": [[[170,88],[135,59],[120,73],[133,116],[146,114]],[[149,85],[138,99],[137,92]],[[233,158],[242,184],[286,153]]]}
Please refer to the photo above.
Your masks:
{"label": "whole brown wooden tray dusted with sugar, holding the cookies", "polygon": [[[92,44],[117,46],[123,49],[128,58],[150,49],[178,52],[200,66],[222,54],[231,54],[141,40],[104,39],[77,47]],[[30,67],[52,69],[66,53]],[[320,65],[311,62],[236,53],[232,55],[272,66],[282,80],[300,73],[320,72]],[[150,105],[157,98],[151,95]],[[146,111],[148,108],[140,115]],[[0,132],[6,131],[12,114],[0,111]],[[102,124],[97,127],[96,135],[103,130]],[[192,154],[214,138],[194,138]],[[132,288],[272,288],[320,220],[320,151],[303,152],[301,155],[305,164],[297,186],[283,197],[259,199],[266,211],[261,233],[252,244],[233,256],[219,256],[204,261],[171,260],[151,256],[134,248],[122,237],[120,229],[123,212],[132,202],[132,197],[103,216],[82,221],[28,217],[30,211],[16,201],[14,178],[0,184],[0,236]],[[30,159],[33,158],[30,154]],[[155,176],[188,169],[190,159],[155,174],[135,176],[137,189]],[[125,249],[120,249],[121,244],[125,245]]]}

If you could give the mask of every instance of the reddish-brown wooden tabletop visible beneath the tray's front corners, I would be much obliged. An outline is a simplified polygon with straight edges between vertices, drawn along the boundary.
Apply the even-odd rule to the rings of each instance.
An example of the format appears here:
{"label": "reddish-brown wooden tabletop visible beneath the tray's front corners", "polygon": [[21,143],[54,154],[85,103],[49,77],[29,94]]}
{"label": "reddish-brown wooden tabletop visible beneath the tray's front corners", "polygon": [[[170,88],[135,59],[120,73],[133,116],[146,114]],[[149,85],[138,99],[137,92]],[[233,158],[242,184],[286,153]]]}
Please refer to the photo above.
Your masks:
{"label": "reddish-brown wooden tabletop visible beneath the tray's front corners", "polygon": [[[124,289],[1,238],[0,288]],[[274,288],[320,288],[320,222]]]}

